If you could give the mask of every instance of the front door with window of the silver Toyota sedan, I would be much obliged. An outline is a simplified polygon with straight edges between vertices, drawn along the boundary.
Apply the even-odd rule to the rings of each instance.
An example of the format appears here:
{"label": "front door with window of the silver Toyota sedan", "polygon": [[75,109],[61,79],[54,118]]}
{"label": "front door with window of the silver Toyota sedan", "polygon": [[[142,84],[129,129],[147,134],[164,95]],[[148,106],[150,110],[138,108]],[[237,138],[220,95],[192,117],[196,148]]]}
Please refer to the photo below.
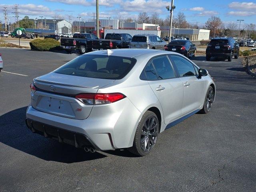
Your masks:
{"label": "front door with window of the silver Toyota sedan", "polygon": [[182,115],[193,112],[204,103],[204,79],[198,78],[198,69],[187,58],[170,56],[184,88]]}

